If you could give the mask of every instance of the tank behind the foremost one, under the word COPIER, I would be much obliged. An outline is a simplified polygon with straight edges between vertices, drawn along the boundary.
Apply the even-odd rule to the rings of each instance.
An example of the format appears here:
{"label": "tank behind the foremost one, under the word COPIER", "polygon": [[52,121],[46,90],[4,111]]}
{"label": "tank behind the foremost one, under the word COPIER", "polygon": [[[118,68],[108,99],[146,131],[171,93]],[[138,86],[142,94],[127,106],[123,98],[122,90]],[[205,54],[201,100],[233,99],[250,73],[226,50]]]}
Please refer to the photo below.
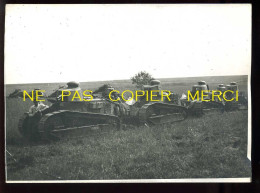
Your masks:
{"label": "tank behind the foremost one, under the word COPIER", "polygon": [[[120,118],[122,124],[152,126],[182,121],[187,117],[186,107],[175,104],[175,101],[171,100],[171,97],[169,97],[171,100],[171,102],[169,102],[167,97],[161,96],[161,85],[159,80],[152,80],[149,85],[143,85],[141,90],[144,91],[145,95],[141,96],[138,101],[135,101],[134,99],[131,101],[124,101],[117,92],[113,92],[112,98],[119,100],[117,102],[112,102],[108,98],[108,94],[113,91],[114,88],[104,85],[98,89],[98,91],[102,90],[102,96],[109,103],[115,104],[114,114]],[[157,101],[151,101],[151,91],[156,95],[153,99]]]}

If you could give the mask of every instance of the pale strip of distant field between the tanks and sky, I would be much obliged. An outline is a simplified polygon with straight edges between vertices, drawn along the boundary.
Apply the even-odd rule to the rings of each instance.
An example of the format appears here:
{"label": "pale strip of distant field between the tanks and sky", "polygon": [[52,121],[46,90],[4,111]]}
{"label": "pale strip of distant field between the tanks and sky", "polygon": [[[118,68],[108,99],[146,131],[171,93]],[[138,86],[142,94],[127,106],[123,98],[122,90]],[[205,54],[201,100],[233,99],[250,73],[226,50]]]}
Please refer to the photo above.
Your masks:
{"label": "pale strip of distant field between the tanks and sky", "polygon": [[[230,82],[238,82],[240,90],[247,92],[247,75],[234,75],[234,76],[202,76],[202,77],[183,77],[183,78],[158,78],[161,81],[162,89],[170,90],[178,94],[184,93],[191,89],[192,85],[196,84],[200,80],[206,81],[210,89],[216,89],[218,84],[229,84]],[[76,81],[76,80],[70,80]],[[103,84],[111,84],[115,89],[122,90],[134,90],[135,85],[132,84],[130,79],[125,80],[108,80],[108,81],[93,81],[93,82],[80,82],[80,87],[83,90],[95,90]],[[66,85],[66,82],[57,83],[32,83],[32,84],[5,84],[5,96],[8,96],[15,89],[21,90],[33,90],[40,88],[45,90],[47,95],[51,94],[53,90],[59,86]]]}

